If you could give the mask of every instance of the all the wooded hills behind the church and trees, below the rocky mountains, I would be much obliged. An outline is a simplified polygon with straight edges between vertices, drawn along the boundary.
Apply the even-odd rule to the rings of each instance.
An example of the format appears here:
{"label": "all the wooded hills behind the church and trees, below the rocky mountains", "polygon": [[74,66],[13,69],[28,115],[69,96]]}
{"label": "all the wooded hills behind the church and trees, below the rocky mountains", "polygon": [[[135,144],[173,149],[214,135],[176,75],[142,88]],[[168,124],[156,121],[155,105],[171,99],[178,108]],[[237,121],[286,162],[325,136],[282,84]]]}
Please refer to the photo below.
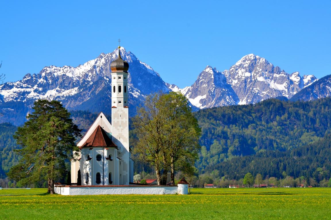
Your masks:
{"label": "all the wooded hills behind the church and trees, below the rocky mountains", "polygon": [[[196,184],[239,181],[248,172],[259,173],[263,179],[325,182],[331,171],[330,104],[331,98],[310,102],[269,99],[194,112],[202,129]],[[97,114],[71,111],[71,117],[84,134]],[[0,124],[0,178],[18,161],[12,137],[16,129],[9,123]],[[135,160],[135,172],[152,170]]]}

